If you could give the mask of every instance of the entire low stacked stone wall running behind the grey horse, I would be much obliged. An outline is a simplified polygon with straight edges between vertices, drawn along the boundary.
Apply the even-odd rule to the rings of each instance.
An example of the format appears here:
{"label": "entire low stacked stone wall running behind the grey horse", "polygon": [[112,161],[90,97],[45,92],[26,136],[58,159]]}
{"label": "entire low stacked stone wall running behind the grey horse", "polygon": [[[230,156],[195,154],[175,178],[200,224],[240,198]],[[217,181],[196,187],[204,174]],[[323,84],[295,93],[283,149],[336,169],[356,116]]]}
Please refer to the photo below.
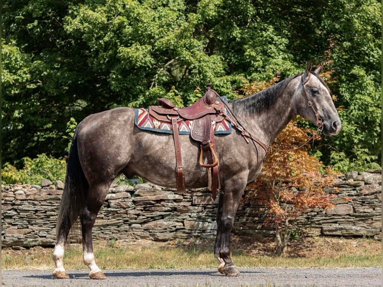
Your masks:
{"label": "entire low stacked stone wall running behind the grey horse", "polygon": [[[1,185],[2,246],[51,246],[62,182],[42,186]],[[46,185],[46,186],[45,186]],[[334,207],[315,209],[297,222],[308,234],[374,236],[381,234],[381,171],[350,172],[340,176],[327,192],[336,193]],[[250,191],[245,191],[245,194]],[[344,200],[344,198],[348,198]],[[194,189],[179,195],[174,189],[147,183],[112,185],[101,207],[93,238],[110,240],[171,240],[215,235],[215,211],[209,191]],[[270,235],[264,226],[265,207],[259,198],[239,206],[233,233]]]}

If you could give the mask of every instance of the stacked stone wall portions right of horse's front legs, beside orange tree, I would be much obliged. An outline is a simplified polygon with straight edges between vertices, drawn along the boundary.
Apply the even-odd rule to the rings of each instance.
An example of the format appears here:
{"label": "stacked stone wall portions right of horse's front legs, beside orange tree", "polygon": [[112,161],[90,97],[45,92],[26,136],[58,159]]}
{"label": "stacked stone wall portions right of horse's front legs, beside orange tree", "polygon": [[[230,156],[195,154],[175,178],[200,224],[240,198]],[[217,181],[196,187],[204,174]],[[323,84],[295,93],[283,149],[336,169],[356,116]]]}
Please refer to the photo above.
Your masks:
{"label": "stacked stone wall portions right of horse's front legs, beside orange tree", "polygon": [[[316,208],[298,217],[296,226],[306,235],[373,236],[381,239],[381,170],[357,171],[341,175],[334,186],[325,191],[334,194],[334,206],[324,210]],[[247,191],[249,192],[249,191]],[[234,231],[248,234],[259,230],[272,235],[265,226],[262,197],[258,195],[238,208]]]}

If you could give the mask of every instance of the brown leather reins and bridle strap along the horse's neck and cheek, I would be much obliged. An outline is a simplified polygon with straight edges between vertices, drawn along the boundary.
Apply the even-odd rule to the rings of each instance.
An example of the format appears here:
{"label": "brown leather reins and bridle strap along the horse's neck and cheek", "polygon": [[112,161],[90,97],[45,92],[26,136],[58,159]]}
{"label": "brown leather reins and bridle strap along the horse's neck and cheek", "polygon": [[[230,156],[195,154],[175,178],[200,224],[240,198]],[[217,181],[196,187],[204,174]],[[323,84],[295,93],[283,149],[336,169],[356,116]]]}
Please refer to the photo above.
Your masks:
{"label": "brown leather reins and bridle strap along the horse's neck and cheek", "polygon": [[233,112],[231,111],[231,109],[228,107],[228,105],[223,101],[222,97],[214,90],[211,89],[211,91],[214,91],[215,94],[222,100],[222,102],[224,103],[227,111],[229,114],[226,114],[225,112],[221,112],[221,115],[227,117],[228,120],[230,120],[231,124],[237,128],[240,132],[241,132],[241,135],[243,136],[243,138],[245,139],[245,141],[247,143],[249,143],[248,141],[248,138],[250,138],[252,141],[258,143],[263,149],[264,151],[267,153],[267,149],[270,148],[270,149],[273,149],[273,150],[276,150],[276,151],[284,151],[284,152],[287,152],[287,151],[294,151],[294,150],[297,150],[301,147],[303,147],[304,145],[308,144],[311,140],[313,141],[317,136],[319,136],[319,132],[323,129],[323,121],[322,119],[319,117],[319,114],[318,112],[315,110],[315,108],[313,107],[312,105],[312,99],[311,99],[311,96],[308,95],[307,91],[306,91],[306,88],[305,88],[305,84],[308,82],[308,80],[310,79],[310,76],[311,76],[311,72],[308,73],[308,76],[307,76],[307,79],[305,81],[303,81],[303,74],[301,76],[301,79],[300,79],[300,83],[302,85],[302,92],[303,94],[305,95],[305,97],[307,98],[307,105],[312,109],[312,111],[314,112],[315,114],[315,117],[316,117],[316,125],[318,126],[318,129],[312,134],[312,136],[306,141],[304,142],[303,144],[299,145],[298,147],[295,147],[295,148],[291,148],[291,149],[279,149],[279,148],[275,148],[275,147],[272,147],[271,145],[267,145],[265,143],[263,143],[262,141],[260,141],[259,139],[257,139],[256,137],[254,137],[252,134],[250,134],[239,122],[239,120],[235,117],[235,115],[233,114]]}

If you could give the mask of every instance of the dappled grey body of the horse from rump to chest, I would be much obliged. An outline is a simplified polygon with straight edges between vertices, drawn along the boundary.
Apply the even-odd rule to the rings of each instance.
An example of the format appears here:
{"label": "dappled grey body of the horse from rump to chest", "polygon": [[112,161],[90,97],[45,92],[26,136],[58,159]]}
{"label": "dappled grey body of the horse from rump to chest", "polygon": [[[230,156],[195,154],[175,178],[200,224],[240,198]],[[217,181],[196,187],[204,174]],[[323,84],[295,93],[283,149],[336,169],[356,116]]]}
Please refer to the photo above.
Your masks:
{"label": "dappled grey body of the horse from rump to chest", "polygon": [[[122,172],[127,177],[138,175],[152,183],[175,187],[172,134],[141,130],[134,124],[134,115],[133,108],[118,107],[91,114],[79,124],[79,157],[85,176],[88,181],[112,180]],[[216,136],[215,141],[222,179],[246,171],[248,165],[255,170],[245,173],[250,175],[249,180],[254,178],[260,162],[252,144],[246,144],[236,132]],[[206,186],[206,169],[198,163],[199,144],[189,135],[180,135],[180,147],[186,188]]]}

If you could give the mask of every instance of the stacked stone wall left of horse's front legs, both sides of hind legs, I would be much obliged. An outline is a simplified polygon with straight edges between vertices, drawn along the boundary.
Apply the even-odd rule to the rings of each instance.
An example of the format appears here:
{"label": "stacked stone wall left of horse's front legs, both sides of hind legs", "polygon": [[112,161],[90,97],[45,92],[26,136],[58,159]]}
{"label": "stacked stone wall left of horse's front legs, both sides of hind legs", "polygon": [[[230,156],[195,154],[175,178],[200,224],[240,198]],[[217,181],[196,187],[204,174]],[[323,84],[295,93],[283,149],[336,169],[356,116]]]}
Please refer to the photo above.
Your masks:
{"label": "stacked stone wall left of horse's front legs, both sides of hind legs", "polygon": [[[2,246],[54,245],[61,189],[49,184],[2,185]],[[175,189],[149,183],[112,184],[97,215],[93,238],[164,241],[213,236],[215,210],[206,189],[179,195]],[[71,239],[78,239],[78,234]]]}

